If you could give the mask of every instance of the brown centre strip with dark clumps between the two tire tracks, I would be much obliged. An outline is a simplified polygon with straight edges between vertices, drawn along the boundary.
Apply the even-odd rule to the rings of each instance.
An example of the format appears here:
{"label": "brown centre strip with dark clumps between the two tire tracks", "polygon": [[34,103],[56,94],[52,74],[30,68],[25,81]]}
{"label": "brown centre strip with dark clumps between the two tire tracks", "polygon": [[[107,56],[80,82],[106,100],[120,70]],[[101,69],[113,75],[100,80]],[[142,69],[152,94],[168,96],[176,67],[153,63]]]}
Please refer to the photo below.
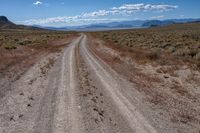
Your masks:
{"label": "brown centre strip with dark clumps between the two tire tracks", "polygon": [[76,48],[76,64],[79,76],[79,103],[86,133],[131,132],[121,114],[114,108],[113,102],[96,77],[88,68],[81,56],[80,48]]}

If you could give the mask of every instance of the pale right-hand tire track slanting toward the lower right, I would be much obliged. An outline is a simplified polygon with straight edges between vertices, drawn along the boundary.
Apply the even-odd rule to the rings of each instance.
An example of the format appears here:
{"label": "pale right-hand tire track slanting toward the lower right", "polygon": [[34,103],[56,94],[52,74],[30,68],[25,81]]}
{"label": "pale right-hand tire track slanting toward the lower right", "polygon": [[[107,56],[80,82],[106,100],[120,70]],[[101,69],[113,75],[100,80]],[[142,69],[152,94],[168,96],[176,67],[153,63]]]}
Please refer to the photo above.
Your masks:
{"label": "pale right-hand tire track slanting toward the lower right", "polygon": [[[149,124],[149,122],[140,114],[134,105],[119,91],[124,86],[120,85],[107,70],[98,62],[93,55],[90,54],[86,45],[87,37],[84,36],[81,42],[81,50],[84,53],[85,60],[95,71],[95,75],[105,87],[105,90],[110,94],[116,108],[119,109],[121,114],[127,120],[127,124],[132,128],[133,132],[137,133],[157,133],[157,131]],[[123,83],[122,83],[123,84]],[[125,125],[124,125],[125,126]]]}

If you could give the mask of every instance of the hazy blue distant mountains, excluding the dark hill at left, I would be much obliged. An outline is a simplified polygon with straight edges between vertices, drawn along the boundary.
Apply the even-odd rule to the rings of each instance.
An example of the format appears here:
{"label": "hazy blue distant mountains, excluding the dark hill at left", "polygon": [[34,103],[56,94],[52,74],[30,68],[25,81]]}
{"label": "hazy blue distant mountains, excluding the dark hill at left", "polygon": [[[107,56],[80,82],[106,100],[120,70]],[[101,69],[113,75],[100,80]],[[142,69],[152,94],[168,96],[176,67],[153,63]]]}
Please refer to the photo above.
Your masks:
{"label": "hazy blue distant mountains, excluding the dark hill at left", "polygon": [[112,30],[112,29],[132,29],[132,28],[148,28],[155,26],[165,26],[176,23],[200,22],[200,19],[168,19],[168,20],[132,20],[111,23],[97,23],[81,26],[66,27],[41,27],[49,30],[76,30],[76,31],[92,31],[92,30]]}

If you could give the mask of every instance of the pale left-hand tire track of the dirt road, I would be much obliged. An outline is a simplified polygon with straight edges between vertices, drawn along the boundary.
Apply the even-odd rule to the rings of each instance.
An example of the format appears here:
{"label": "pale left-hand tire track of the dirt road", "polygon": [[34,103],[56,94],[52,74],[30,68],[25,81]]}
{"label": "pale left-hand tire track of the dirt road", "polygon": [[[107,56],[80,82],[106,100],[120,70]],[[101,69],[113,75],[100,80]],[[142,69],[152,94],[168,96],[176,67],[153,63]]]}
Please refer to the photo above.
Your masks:
{"label": "pale left-hand tire track of the dirt road", "polygon": [[62,59],[61,81],[57,95],[57,111],[54,117],[54,133],[82,132],[81,114],[78,112],[75,90],[75,47],[82,36],[75,40],[65,51]]}

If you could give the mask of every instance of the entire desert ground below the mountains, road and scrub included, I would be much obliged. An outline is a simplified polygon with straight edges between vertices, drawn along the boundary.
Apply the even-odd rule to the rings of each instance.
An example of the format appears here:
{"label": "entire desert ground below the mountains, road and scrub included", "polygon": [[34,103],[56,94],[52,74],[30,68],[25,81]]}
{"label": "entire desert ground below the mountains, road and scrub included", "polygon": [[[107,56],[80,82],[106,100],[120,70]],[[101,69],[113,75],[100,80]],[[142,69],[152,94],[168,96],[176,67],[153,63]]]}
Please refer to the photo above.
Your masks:
{"label": "entire desert ground below the mountains, road and scrub included", "polygon": [[0,132],[199,133],[199,29],[0,31]]}

